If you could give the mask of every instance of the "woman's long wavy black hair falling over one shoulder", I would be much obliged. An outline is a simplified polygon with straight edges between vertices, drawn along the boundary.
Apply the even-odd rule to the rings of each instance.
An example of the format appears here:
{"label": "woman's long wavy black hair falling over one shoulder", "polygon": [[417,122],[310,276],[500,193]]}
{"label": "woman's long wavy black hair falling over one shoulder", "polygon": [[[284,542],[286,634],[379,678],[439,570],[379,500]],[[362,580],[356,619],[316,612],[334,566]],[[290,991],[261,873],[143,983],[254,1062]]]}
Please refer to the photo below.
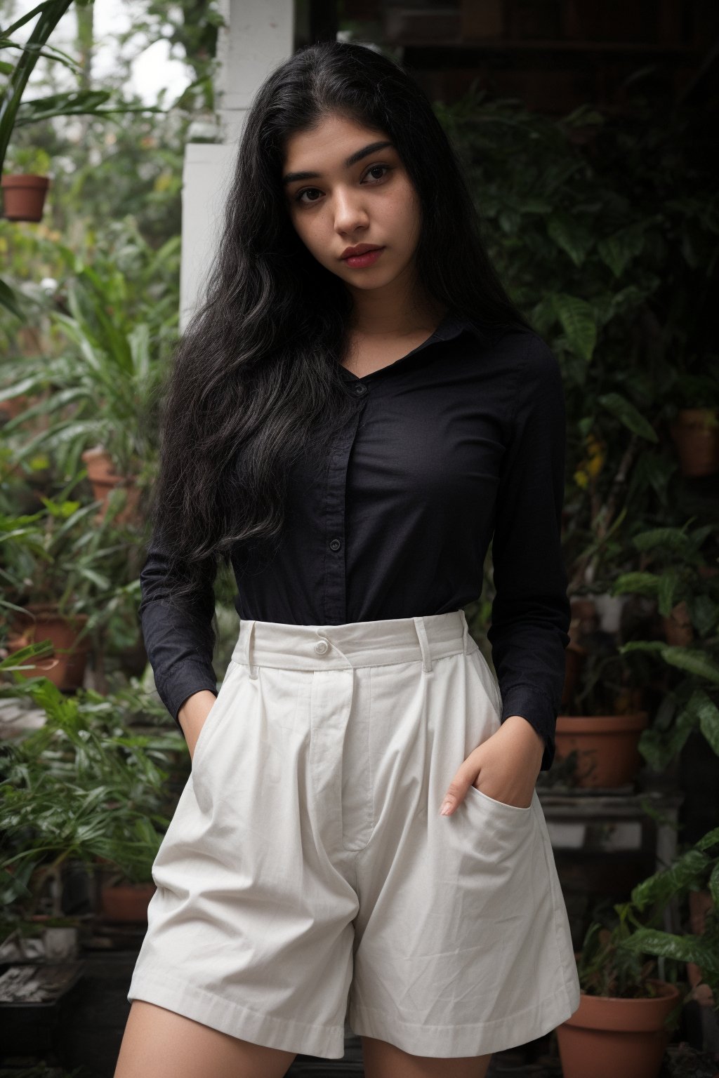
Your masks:
{"label": "woman's long wavy black hair falling over one shoulder", "polygon": [[423,89],[363,45],[320,42],[281,63],[245,120],[205,302],[172,359],[151,517],[177,597],[237,550],[272,544],[290,464],[357,400],[340,372],[351,296],[309,253],[285,203],[290,136],[341,114],[388,136],[417,192],[417,280],[480,328],[527,327],[481,238],[457,155]]}

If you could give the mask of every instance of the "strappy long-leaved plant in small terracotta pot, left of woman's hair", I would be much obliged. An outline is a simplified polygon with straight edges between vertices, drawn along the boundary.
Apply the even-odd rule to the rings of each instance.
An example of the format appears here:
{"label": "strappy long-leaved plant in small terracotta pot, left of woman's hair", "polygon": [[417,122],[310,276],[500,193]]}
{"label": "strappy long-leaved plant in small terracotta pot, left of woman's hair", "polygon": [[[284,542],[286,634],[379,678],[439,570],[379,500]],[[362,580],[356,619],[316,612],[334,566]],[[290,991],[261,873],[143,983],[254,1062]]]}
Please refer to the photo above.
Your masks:
{"label": "strappy long-leaved plant in small terracotta pot, left of woman's hair", "polygon": [[[61,353],[28,359],[17,369],[16,384],[8,385],[4,393],[13,396],[20,388],[32,392],[49,382],[54,387],[33,409],[34,415],[52,421],[13,447],[17,464],[40,451],[51,454],[65,471],[82,459],[99,503],[98,520],[107,511],[109,496],[120,488],[125,501],[117,523],[138,524],[139,499],[151,482],[157,447],[162,356],[169,354],[175,340],[176,302],[163,275],[175,264],[177,245],[170,241],[151,251],[128,230],[117,244],[121,238],[126,241],[125,260],[127,251],[133,252],[132,264],[117,264],[111,252],[99,265],[79,270],[65,289],[67,312],[51,315],[64,341]],[[137,274],[138,282],[147,280],[144,295],[128,289],[129,272]],[[12,438],[25,418],[20,413],[10,419],[4,433]]]}

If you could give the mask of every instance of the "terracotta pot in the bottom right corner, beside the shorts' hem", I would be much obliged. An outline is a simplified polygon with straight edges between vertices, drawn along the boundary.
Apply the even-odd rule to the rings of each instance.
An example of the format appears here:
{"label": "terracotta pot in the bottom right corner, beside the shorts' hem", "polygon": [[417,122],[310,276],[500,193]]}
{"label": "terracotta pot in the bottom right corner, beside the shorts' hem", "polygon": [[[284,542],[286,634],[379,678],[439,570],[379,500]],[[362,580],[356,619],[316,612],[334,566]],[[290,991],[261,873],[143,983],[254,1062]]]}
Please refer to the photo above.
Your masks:
{"label": "terracotta pot in the bottom right corner, beside the shorts' hem", "polygon": [[578,1010],[556,1028],[564,1078],[656,1078],[672,1031],[663,1024],[679,990],[650,978],[654,998],[580,995]]}

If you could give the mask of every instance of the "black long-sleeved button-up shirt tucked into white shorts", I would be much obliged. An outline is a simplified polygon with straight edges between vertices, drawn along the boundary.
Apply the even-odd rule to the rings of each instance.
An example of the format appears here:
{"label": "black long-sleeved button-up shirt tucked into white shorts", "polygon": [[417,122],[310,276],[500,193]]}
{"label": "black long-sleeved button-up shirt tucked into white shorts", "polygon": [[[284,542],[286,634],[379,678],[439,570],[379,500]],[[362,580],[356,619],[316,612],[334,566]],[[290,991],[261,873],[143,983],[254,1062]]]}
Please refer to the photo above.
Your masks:
{"label": "black long-sleeved button-up shirt tucked into white shorts", "polygon": [[[445,613],[478,599],[492,540],[487,637],[501,720],[554,729],[570,619],[562,547],[565,401],[559,367],[528,330],[487,334],[447,313],[418,347],[361,378],[342,368],[357,410],[326,457],[288,476],[272,558],[233,553],[240,619],[334,625]],[[215,573],[195,599],[167,603],[153,539],[140,619],[161,700],[177,721],[212,667]],[[178,722],[179,725],[179,722]]]}

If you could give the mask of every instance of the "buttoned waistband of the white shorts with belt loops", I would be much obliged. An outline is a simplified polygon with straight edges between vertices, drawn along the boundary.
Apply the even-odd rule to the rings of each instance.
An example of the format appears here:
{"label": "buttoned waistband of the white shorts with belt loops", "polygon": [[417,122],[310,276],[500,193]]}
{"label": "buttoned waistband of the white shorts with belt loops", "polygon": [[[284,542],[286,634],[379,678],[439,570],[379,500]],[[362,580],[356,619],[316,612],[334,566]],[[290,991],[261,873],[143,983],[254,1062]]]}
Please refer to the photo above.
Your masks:
{"label": "buttoned waistband of the white shorts with belt loops", "polygon": [[252,678],[260,666],[322,671],[413,661],[431,674],[437,659],[470,654],[476,648],[464,610],[342,625],[288,625],[246,618],[240,620],[232,659],[249,666]]}

